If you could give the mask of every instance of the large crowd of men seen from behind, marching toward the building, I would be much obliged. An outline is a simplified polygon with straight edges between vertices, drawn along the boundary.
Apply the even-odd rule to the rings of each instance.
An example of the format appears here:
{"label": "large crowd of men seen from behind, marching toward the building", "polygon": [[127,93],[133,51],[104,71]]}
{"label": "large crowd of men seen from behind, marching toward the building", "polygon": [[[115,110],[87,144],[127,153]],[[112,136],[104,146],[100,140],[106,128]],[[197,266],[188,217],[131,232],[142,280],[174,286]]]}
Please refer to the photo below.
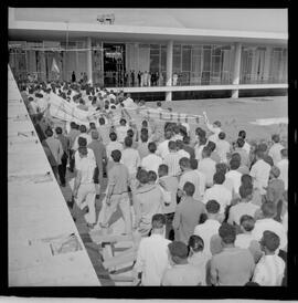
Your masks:
{"label": "large crowd of men seen from behind, marching toward the building", "polygon": [[228,142],[221,122],[206,115],[194,135],[187,123],[131,125],[121,117],[113,125],[104,114],[88,126],[72,122],[66,132],[49,116],[53,94],[82,111],[135,103],[129,94],[93,86],[22,87],[61,186],[67,165],[75,173],[75,206],[87,209],[89,228],[108,229],[119,208],[123,233],[141,234],[136,284],[286,285],[288,152],[279,135],[249,145],[240,129]]}

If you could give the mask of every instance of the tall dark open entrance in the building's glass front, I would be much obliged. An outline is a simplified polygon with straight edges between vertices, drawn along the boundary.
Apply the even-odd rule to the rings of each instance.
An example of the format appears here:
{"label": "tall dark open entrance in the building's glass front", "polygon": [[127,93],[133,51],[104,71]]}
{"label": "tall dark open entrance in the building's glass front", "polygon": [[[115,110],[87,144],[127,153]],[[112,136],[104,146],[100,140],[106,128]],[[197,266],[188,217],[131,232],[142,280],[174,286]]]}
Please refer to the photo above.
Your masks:
{"label": "tall dark open entrance in the building's glass front", "polygon": [[106,87],[124,86],[125,44],[104,43],[104,75]]}

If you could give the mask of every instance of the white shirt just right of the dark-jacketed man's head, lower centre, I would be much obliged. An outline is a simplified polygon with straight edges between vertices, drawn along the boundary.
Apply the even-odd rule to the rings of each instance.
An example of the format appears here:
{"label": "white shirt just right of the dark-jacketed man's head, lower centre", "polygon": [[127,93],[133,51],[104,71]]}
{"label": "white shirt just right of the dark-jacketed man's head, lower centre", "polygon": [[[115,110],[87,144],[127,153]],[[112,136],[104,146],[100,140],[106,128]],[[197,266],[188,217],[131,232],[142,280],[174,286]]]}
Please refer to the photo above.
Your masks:
{"label": "white shirt just right of the dark-jacketed man's head, lower centre", "polygon": [[220,203],[220,213],[224,213],[226,206],[231,205],[232,194],[225,186],[215,184],[213,187],[206,189],[203,203],[209,200],[215,200]]}

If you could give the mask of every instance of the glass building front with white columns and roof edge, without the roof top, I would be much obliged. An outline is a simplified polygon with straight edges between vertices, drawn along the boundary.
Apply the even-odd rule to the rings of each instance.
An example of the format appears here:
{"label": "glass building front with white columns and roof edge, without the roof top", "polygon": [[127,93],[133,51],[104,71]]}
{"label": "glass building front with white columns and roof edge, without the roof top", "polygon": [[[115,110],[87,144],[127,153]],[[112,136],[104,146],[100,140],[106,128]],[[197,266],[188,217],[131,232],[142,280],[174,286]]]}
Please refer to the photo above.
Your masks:
{"label": "glass building front with white columns and roof edge, without the roof top", "polygon": [[[42,13],[45,10],[52,9]],[[71,81],[74,72],[79,81],[86,73],[93,84],[160,92],[168,101],[173,92],[230,91],[236,98],[241,90],[287,88],[285,30],[117,25],[123,11],[115,13],[114,24],[98,24],[28,21],[30,13],[10,9],[9,63],[14,76]]]}

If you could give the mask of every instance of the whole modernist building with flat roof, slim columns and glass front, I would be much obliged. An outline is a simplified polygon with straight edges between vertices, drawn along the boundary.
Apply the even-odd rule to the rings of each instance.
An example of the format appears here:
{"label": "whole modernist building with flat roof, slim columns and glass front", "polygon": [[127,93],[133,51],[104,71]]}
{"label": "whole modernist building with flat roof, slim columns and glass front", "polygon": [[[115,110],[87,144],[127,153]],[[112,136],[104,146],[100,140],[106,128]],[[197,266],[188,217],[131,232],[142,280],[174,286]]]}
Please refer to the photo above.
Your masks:
{"label": "whole modernist building with flat roof, slim columns and glass front", "polygon": [[[15,79],[52,80],[54,60],[61,80],[86,73],[94,84],[168,101],[287,90],[287,41],[286,9],[9,9]],[[139,72],[158,72],[158,81],[139,81]]]}

